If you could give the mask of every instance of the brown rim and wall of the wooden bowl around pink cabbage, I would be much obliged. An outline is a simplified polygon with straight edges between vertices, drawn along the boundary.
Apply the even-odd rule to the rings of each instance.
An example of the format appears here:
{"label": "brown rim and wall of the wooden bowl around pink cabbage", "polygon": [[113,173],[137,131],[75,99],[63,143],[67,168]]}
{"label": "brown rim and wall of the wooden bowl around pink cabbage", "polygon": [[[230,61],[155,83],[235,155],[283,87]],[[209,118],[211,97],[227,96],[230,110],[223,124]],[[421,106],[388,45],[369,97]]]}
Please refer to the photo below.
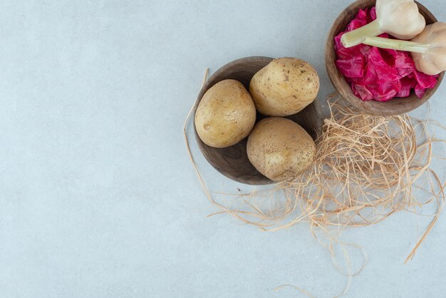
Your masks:
{"label": "brown rim and wall of the wooden bowl around pink cabbage", "polygon": [[[371,4],[368,4],[369,1],[371,2]],[[415,103],[413,103],[413,105],[399,104],[399,105],[393,105],[396,108],[390,108],[389,105],[385,107],[385,103],[388,102],[383,103],[379,101],[362,101],[361,98],[356,97],[353,94],[353,91],[351,91],[351,86],[348,85],[344,76],[336,67],[335,59],[332,58],[333,56],[336,58],[336,51],[334,48],[335,46],[334,37],[339,33],[336,31],[336,24],[343,21],[343,19],[345,19],[346,16],[348,16],[348,14],[350,14],[352,11],[356,11],[357,13],[358,9],[363,9],[365,7],[372,7],[374,5],[373,2],[375,2],[375,0],[368,0],[368,1],[357,0],[352,4],[350,4],[349,6],[347,6],[346,9],[341,11],[341,13],[336,17],[335,21],[333,21],[331,29],[328,32],[328,37],[326,40],[326,48],[325,48],[325,63],[326,63],[326,71],[328,73],[328,78],[330,78],[333,87],[341,95],[341,98],[348,101],[348,103],[360,109],[361,111],[373,115],[383,115],[383,116],[400,115],[403,113],[408,113],[422,106],[433,96],[435,91],[437,91],[437,89],[440,87],[442,83],[442,80],[445,76],[445,71],[440,73],[435,88],[428,89],[422,98],[418,98],[419,99],[418,101],[414,101]],[[429,18],[432,19],[432,22],[437,22],[437,19],[429,9],[420,4],[418,1],[415,1],[415,3],[418,4],[418,7],[420,9],[425,11],[427,16],[429,16]],[[334,78],[336,78],[336,80]],[[337,78],[342,78],[342,79],[338,80]],[[393,101],[393,103],[398,103],[397,101],[404,101],[404,100],[405,98],[393,98],[390,101]]]}

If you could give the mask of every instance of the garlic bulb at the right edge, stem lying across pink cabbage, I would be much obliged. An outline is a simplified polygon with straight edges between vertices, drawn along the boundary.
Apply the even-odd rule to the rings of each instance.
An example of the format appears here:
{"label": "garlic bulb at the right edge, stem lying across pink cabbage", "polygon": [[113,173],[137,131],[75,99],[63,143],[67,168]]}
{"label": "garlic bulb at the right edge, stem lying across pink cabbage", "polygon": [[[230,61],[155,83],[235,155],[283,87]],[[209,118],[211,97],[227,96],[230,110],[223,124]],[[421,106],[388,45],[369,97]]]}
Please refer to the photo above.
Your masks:
{"label": "garlic bulb at the right edge, stem lying across pink cabbage", "polygon": [[412,52],[415,67],[427,75],[434,76],[446,71],[446,23],[437,22],[426,26],[412,41],[367,37],[363,43],[378,48]]}

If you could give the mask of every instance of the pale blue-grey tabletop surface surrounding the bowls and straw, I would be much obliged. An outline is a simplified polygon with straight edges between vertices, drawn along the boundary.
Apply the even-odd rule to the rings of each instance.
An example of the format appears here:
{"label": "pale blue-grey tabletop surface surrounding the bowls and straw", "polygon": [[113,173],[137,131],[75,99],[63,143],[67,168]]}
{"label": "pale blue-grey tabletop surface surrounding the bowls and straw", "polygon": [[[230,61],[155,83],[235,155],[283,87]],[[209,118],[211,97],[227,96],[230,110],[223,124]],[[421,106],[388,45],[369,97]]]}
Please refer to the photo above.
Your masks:
{"label": "pale blue-grey tabletop surface surrounding the bowls and straw", "polygon": [[[205,68],[244,56],[310,61],[323,102],[326,34],[350,2],[1,0],[0,297],[339,294],[346,277],[306,225],[207,217],[182,123]],[[422,2],[446,20],[444,1]],[[445,96],[430,101],[443,124]],[[214,190],[249,190],[192,148]],[[347,297],[444,297],[445,223],[406,265],[426,219],[346,232],[369,257]]]}

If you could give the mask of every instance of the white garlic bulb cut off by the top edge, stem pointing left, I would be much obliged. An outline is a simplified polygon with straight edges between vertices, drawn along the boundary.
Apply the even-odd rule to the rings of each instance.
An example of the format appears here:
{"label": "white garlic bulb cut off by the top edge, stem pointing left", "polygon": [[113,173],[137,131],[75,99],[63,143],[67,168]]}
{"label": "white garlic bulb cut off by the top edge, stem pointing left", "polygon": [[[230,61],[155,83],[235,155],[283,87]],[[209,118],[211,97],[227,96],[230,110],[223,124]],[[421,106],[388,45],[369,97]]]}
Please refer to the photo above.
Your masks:
{"label": "white garlic bulb cut off by the top edge, stem pointing left", "polygon": [[362,43],[368,36],[383,33],[408,40],[420,34],[425,26],[425,18],[414,0],[376,0],[375,21],[344,34],[341,42],[350,48]]}

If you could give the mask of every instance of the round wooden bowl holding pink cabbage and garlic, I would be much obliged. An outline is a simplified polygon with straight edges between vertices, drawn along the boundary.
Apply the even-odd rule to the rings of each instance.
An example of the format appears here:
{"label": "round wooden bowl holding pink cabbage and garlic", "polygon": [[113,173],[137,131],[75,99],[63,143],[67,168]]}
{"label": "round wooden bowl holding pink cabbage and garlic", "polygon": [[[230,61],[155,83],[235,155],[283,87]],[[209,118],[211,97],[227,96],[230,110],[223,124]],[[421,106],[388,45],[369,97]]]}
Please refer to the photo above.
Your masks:
{"label": "round wooden bowl holding pink cabbage and garlic", "polygon": [[[375,6],[375,3],[375,0],[358,0],[342,11],[342,13],[338,16],[338,19],[336,19],[334,22],[326,42],[325,62],[328,76],[330,77],[331,83],[333,83],[333,86],[341,94],[341,96],[345,98],[346,101],[351,103],[351,105],[361,109],[362,111],[373,115],[399,115],[408,113],[415,108],[418,108],[432,97],[445,76],[444,71],[438,78],[437,86],[435,86],[433,89],[427,89],[422,98],[418,98],[415,95],[415,92],[412,91],[408,98],[393,98],[388,102],[380,103],[378,101],[362,101],[360,98],[357,98],[353,94],[351,86],[346,82],[346,79],[343,77],[342,73],[338,71],[338,68],[336,68],[335,65],[335,36],[346,29],[348,23],[356,16],[356,14],[358,14],[359,9],[373,7]],[[435,16],[433,16],[432,13],[425,8],[425,6],[422,6],[418,2],[417,4],[420,13],[425,17],[427,24],[432,24],[437,21]]]}

